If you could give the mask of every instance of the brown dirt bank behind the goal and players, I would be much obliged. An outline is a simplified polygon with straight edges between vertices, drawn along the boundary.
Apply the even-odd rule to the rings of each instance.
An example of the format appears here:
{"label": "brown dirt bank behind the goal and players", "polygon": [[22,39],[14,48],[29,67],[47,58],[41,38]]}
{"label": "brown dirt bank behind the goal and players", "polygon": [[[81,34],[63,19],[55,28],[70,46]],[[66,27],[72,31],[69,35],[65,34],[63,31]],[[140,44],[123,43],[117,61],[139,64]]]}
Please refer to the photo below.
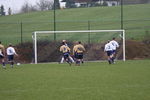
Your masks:
{"label": "brown dirt bank behind the goal and players", "polygon": [[[73,43],[68,43],[73,48]],[[86,52],[85,60],[106,60],[104,53],[105,43],[84,44]],[[40,41],[38,42],[38,62],[59,62],[62,55],[59,52],[59,42]],[[32,43],[23,43],[15,46],[19,57],[17,60],[22,63],[31,63],[34,61],[34,51]],[[71,53],[72,54],[72,53]],[[150,44],[148,41],[139,42],[134,40],[126,41],[126,59],[147,59],[150,58]],[[117,50],[117,59],[122,59],[122,45]]]}

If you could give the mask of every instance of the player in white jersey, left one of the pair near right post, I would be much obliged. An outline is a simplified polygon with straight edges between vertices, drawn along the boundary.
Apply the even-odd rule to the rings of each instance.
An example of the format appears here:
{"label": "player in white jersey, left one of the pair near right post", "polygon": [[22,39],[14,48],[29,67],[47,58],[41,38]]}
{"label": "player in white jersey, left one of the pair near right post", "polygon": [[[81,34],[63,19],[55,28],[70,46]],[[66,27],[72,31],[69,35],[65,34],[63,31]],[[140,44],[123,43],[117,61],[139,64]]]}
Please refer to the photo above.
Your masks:
{"label": "player in white jersey, left one of the pair near right post", "polygon": [[105,44],[104,52],[107,52],[109,64],[112,64],[112,57],[113,57],[113,49],[112,48],[113,48],[113,46],[110,43],[110,41],[108,40],[107,44]]}

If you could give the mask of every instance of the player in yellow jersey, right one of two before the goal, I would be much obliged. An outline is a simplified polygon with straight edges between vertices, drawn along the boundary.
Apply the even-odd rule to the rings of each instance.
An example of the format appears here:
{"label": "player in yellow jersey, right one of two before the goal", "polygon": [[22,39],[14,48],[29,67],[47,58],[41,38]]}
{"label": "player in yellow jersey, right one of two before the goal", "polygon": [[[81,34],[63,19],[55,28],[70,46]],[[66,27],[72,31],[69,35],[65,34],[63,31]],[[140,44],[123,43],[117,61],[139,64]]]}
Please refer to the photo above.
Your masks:
{"label": "player in yellow jersey, right one of two before the goal", "polygon": [[83,52],[85,52],[85,48],[79,41],[78,44],[73,47],[74,57],[76,57],[76,65],[78,66],[80,66],[80,63],[84,63]]}

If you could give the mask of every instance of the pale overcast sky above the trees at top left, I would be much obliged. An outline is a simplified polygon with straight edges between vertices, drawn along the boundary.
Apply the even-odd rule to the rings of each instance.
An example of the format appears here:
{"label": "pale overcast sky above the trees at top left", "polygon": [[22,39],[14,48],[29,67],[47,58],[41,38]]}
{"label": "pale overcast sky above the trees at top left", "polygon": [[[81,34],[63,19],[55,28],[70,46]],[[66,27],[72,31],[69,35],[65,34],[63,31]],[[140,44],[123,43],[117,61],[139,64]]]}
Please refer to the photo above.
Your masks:
{"label": "pale overcast sky above the trees at top left", "polygon": [[17,13],[25,2],[34,5],[38,1],[39,0],[0,0],[0,5],[4,5],[6,14],[9,7],[12,9],[12,13]]}

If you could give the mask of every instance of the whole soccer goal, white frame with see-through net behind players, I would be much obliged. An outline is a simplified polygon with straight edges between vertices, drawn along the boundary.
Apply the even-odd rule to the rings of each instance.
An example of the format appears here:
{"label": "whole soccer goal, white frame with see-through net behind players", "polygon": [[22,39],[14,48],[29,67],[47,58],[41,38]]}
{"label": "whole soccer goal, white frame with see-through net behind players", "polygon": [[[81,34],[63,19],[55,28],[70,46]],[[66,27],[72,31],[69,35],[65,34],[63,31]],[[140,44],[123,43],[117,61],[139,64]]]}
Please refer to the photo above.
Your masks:
{"label": "whole soccer goal, white frame with see-through net behind players", "polygon": [[81,41],[86,48],[86,61],[106,60],[104,45],[113,37],[120,45],[116,59],[125,61],[125,30],[35,31],[32,34],[34,63],[59,62],[62,40],[67,40],[71,50],[74,42]]}

